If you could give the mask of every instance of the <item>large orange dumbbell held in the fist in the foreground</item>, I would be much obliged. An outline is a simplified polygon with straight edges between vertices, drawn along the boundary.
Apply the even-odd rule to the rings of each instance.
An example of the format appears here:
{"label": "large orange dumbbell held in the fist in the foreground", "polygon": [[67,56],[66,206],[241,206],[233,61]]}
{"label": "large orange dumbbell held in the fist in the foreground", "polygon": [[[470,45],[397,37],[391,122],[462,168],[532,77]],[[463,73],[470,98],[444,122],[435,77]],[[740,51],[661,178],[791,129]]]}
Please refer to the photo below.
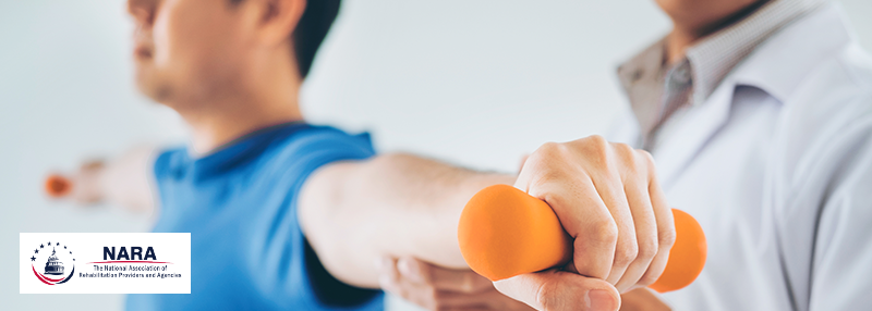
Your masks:
{"label": "large orange dumbbell held in the fist in the foreground", "polygon": [[[673,209],[673,215],[675,245],[666,270],[649,286],[659,293],[690,285],[705,265],[702,227],[688,213]],[[564,266],[572,259],[572,238],[554,210],[508,185],[484,188],[470,199],[460,215],[458,238],[470,268],[491,281]]]}

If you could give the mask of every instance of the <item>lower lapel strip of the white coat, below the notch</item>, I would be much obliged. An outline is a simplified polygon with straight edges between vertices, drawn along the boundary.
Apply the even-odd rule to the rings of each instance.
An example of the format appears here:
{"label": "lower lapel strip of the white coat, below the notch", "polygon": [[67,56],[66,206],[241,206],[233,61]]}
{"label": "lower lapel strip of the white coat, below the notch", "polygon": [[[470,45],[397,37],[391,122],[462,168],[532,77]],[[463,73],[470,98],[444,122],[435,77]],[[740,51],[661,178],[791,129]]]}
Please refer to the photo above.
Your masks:
{"label": "lower lapel strip of the white coat, below the notch", "polygon": [[725,79],[702,104],[690,108],[677,124],[674,135],[652,152],[657,162],[657,177],[664,188],[695,158],[708,140],[726,124],[729,117],[735,83]]}

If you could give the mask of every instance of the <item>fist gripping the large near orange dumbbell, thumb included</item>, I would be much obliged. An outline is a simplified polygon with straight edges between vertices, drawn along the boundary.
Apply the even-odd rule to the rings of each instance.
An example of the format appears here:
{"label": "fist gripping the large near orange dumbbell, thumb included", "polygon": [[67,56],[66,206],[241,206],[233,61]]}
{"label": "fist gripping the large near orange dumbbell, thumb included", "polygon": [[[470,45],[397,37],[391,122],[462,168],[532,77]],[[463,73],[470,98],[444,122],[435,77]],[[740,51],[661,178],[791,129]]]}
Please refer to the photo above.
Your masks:
{"label": "fist gripping the large near orange dumbbell, thumb included", "polygon": [[675,224],[647,152],[601,136],[549,142],[514,186],[552,207],[574,252],[565,268],[496,282],[507,296],[538,310],[618,310],[619,293],[666,268]]}

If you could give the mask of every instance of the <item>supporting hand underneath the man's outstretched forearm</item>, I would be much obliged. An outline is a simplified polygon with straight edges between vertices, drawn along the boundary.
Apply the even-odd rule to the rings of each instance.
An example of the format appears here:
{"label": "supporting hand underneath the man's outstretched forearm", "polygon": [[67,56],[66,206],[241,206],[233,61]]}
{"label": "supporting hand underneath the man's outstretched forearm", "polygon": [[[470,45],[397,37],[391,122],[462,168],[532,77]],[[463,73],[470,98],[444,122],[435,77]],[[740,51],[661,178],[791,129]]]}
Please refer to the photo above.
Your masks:
{"label": "supporting hand underneath the man's outstretched forearm", "polygon": [[471,270],[453,270],[403,257],[379,262],[379,285],[427,310],[532,310]]}

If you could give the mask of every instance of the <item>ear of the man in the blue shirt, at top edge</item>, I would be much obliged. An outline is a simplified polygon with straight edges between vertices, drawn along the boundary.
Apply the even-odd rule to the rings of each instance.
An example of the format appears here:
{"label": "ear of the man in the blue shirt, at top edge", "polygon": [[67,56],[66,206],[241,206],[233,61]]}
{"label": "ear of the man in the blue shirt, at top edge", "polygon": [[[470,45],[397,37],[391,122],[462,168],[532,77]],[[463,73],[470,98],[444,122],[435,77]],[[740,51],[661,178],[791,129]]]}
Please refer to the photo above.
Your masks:
{"label": "ear of the man in the blue shirt, at top edge", "polygon": [[306,7],[306,0],[247,1],[256,2],[258,8],[256,27],[259,41],[270,46],[286,42],[291,37]]}

